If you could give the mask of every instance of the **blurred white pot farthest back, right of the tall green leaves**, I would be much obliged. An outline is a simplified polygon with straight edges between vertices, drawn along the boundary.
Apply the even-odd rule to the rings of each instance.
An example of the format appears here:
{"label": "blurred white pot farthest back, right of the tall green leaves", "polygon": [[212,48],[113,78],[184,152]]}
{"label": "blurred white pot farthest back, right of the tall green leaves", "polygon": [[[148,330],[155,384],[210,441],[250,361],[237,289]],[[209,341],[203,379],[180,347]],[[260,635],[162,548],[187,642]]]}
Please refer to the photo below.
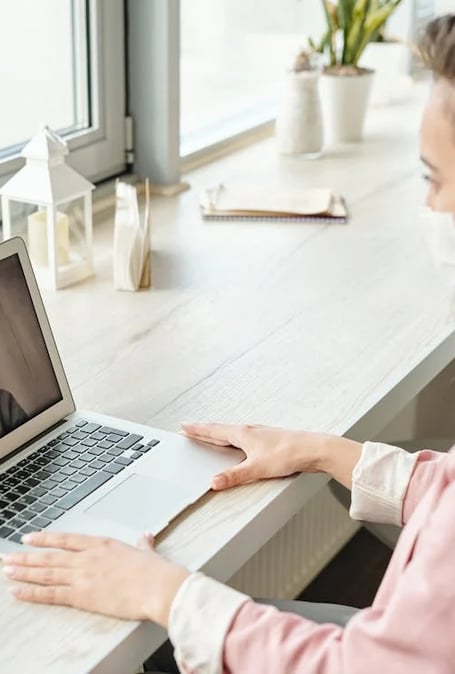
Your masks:
{"label": "blurred white pot farthest back, right of the tall green leaves", "polygon": [[412,91],[411,51],[397,42],[370,42],[360,65],[375,71],[371,91],[372,105],[399,102]]}

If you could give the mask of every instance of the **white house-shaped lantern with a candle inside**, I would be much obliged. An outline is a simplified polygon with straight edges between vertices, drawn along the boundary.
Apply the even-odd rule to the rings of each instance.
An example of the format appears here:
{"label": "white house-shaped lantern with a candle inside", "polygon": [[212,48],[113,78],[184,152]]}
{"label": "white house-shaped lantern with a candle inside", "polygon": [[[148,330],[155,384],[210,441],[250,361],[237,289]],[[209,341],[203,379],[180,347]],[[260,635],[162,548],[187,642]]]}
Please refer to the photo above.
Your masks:
{"label": "white house-shaped lantern with a candle inside", "polygon": [[[42,288],[56,290],[92,276],[92,190],[94,185],[65,163],[66,143],[51,129],[41,131],[24,147],[25,165],[2,188],[3,238],[13,236],[11,202],[34,204],[28,216],[27,244]],[[59,211],[83,200],[82,225]]]}

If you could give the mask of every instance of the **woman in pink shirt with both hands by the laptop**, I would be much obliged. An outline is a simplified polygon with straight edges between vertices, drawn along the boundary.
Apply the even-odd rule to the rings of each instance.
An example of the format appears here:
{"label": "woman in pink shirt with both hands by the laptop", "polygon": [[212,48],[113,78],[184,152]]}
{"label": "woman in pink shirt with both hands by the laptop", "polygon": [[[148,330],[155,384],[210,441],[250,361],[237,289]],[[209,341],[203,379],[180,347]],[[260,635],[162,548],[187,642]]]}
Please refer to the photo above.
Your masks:
{"label": "woman in pink shirt with both hands by the laptop", "polygon": [[[423,51],[435,75],[421,129],[427,202],[455,213],[455,15],[428,25]],[[411,455],[262,427],[187,424],[184,432],[244,450],[246,460],[214,478],[214,489],[325,471],[352,488],[353,517],[404,524],[373,605],[344,627],[318,624],[168,562],[150,537],[136,549],[50,532],[24,541],[60,549],[4,559],[5,574],[22,581],[12,589],[16,597],[158,622],[168,628],[187,674],[455,671],[455,453]]]}

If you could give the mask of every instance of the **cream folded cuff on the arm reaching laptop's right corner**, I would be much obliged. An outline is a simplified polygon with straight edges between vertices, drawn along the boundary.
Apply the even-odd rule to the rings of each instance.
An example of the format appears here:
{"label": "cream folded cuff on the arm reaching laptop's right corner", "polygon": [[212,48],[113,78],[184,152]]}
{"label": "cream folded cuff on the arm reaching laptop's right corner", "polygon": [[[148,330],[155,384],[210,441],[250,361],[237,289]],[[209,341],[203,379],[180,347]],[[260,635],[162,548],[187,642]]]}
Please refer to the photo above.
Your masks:
{"label": "cream folded cuff on the arm reaching laptop's right corner", "polygon": [[417,458],[418,452],[365,442],[352,473],[351,517],[402,526],[403,499]]}

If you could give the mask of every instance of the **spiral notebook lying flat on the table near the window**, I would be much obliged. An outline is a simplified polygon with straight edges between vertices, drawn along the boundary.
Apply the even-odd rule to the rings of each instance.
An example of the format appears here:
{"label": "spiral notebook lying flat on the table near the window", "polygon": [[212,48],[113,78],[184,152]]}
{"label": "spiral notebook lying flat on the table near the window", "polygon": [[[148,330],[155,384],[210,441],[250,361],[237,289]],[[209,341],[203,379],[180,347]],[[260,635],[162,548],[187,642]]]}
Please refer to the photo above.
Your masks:
{"label": "spiral notebook lying flat on the table near the window", "polygon": [[216,185],[200,195],[204,220],[346,223],[346,202],[330,189],[265,189]]}

